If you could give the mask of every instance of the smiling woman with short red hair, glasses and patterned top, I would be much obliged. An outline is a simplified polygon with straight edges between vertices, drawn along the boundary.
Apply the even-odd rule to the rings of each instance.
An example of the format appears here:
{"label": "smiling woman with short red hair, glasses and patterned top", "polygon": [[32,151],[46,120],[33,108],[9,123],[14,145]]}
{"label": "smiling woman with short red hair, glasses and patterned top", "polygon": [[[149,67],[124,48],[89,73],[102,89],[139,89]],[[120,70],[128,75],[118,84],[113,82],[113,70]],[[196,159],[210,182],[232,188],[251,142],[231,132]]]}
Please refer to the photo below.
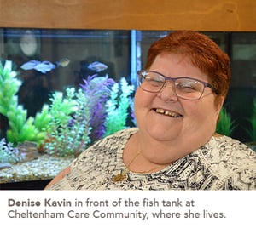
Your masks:
{"label": "smiling woman with short red hair, glasses and patterned top", "polygon": [[230,85],[230,60],[216,43],[172,32],[152,44],[138,77],[137,128],[99,140],[46,189],[256,189],[255,152],[215,134]]}

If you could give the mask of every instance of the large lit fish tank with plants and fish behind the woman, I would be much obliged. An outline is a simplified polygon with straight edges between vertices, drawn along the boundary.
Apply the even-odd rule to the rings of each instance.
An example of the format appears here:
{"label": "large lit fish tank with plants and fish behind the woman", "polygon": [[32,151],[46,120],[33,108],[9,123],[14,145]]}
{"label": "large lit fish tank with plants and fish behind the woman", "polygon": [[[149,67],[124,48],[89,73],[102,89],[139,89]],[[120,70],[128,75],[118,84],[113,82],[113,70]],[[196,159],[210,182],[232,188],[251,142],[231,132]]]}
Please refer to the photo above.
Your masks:
{"label": "large lit fish tank with plants and fish behind the woman", "polygon": [[[43,189],[79,153],[137,125],[148,48],[170,31],[0,29],[0,189]],[[202,31],[230,55],[217,131],[256,141],[256,32]]]}

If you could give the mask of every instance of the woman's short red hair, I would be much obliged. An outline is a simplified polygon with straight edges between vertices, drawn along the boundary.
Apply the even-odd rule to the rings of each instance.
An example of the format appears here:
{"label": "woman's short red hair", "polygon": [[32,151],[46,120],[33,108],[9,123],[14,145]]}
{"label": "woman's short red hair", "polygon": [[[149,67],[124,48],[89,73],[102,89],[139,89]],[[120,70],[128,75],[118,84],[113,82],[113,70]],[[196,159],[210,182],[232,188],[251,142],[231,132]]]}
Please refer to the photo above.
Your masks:
{"label": "woman's short red hair", "polygon": [[230,87],[230,58],[218,44],[196,31],[174,31],[148,49],[146,69],[159,54],[181,54],[209,77],[218,96],[226,97]]}

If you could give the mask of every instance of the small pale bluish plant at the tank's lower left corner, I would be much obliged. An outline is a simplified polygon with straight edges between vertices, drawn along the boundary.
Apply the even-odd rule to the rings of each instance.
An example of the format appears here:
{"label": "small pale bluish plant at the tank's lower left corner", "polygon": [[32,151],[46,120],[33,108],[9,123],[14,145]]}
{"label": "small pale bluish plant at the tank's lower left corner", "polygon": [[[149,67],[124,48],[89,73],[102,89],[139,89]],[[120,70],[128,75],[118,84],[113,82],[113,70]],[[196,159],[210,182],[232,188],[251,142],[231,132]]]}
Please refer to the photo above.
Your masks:
{"label": "small pale bluish plant at the tank's lower left corner", "polygon": [[24,156],[12,143],[0,140],[0,163],[19,163]]}

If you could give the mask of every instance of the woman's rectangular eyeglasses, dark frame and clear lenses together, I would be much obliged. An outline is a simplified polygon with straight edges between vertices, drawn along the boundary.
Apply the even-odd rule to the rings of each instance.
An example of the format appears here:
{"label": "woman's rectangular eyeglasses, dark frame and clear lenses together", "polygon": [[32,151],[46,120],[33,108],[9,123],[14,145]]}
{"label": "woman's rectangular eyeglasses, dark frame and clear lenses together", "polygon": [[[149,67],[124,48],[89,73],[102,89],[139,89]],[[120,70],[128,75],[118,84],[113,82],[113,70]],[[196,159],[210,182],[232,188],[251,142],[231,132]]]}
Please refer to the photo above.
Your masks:
{"label": "woman's rectangular eyeglasses, dark frame and clear lenses together", "polygon": [[166,77],[157,71],[137,71],[139,78],[139,86],[144,91],[150,93],[158,93],[164,88],[166,81],[174,83],[174,90],[177,97],[185,100],[199,100],[204,93],[206,87],[212,88],[214,92],[216,89],[210,83],[197,80],[190,77]]}

